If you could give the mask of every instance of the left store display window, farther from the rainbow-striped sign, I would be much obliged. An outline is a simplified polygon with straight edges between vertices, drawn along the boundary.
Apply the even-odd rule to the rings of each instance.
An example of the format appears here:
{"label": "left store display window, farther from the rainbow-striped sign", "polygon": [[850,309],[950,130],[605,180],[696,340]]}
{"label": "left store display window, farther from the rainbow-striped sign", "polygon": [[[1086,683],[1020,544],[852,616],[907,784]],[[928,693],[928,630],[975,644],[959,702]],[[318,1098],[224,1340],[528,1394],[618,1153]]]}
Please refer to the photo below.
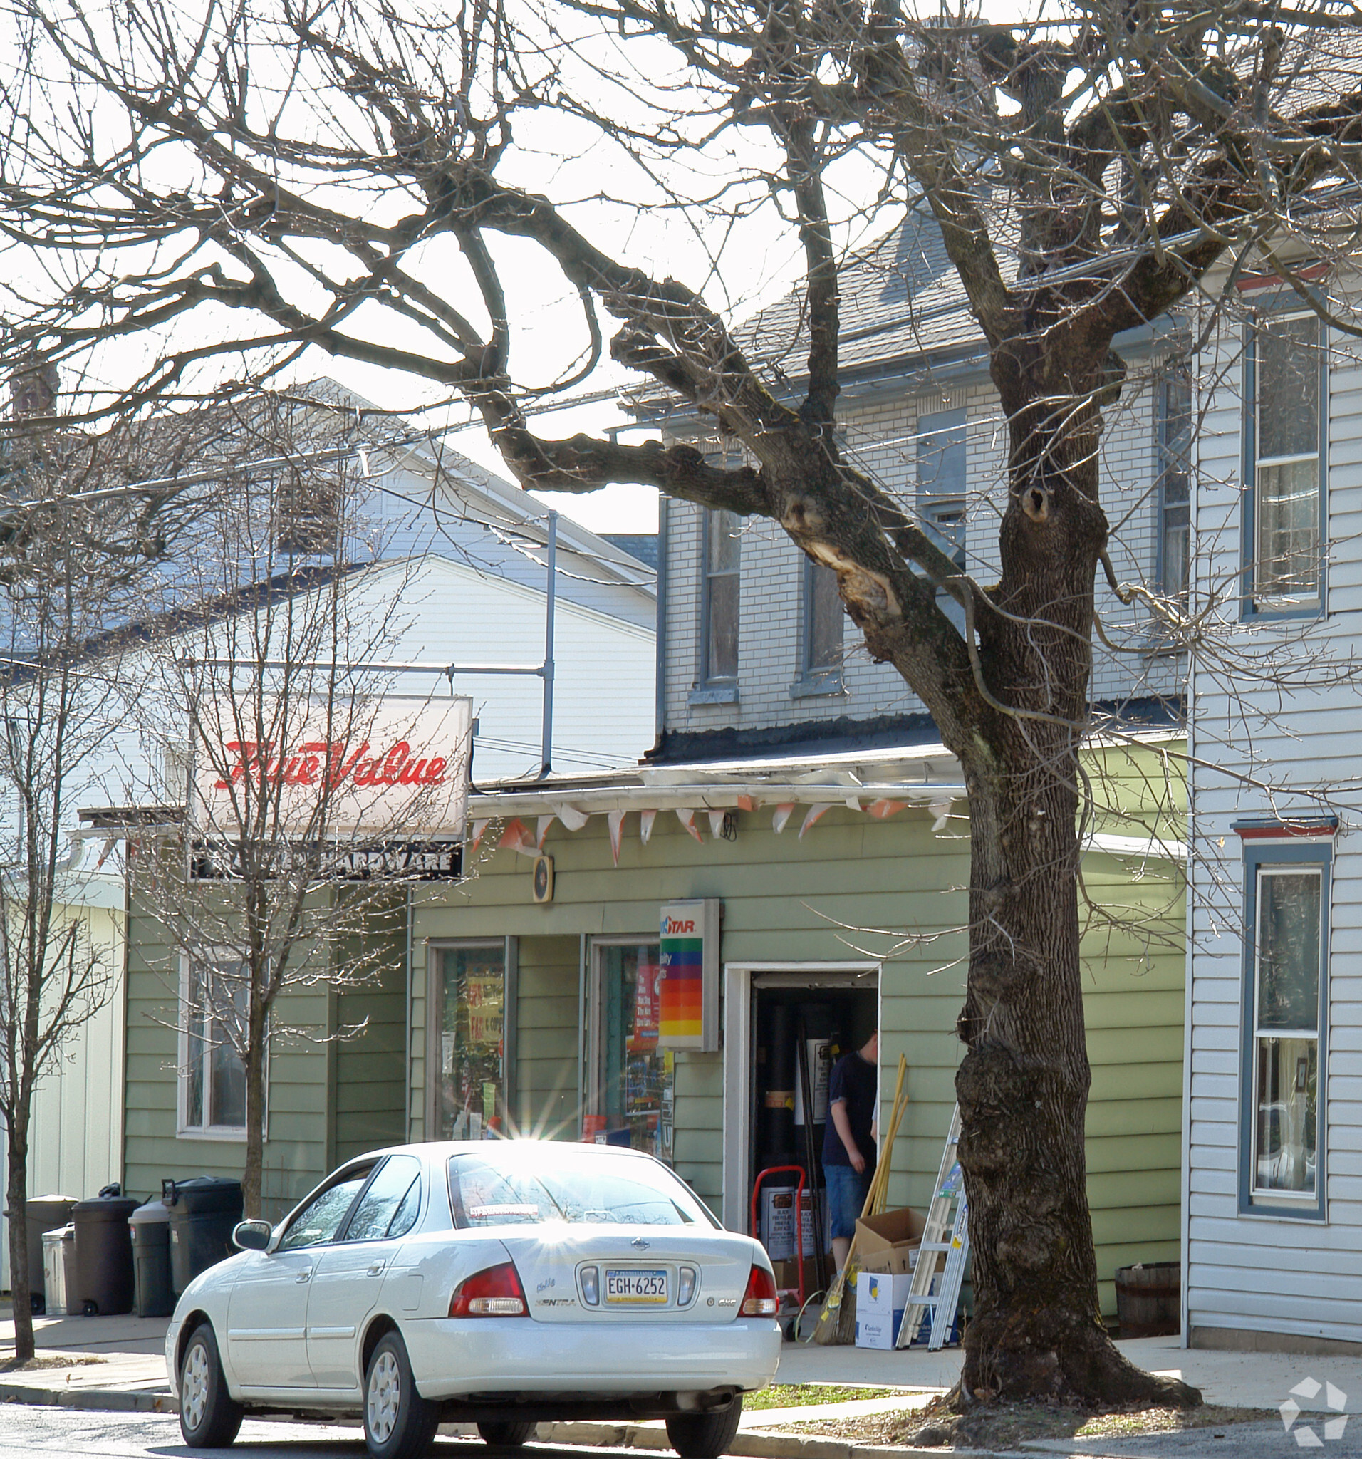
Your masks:
{"label": "left store display window, farther from the rainbow-striped sign", "polygon": [[493,1139],[506,1125],[506,944],[440,947],[433,956],[436,1138]]}

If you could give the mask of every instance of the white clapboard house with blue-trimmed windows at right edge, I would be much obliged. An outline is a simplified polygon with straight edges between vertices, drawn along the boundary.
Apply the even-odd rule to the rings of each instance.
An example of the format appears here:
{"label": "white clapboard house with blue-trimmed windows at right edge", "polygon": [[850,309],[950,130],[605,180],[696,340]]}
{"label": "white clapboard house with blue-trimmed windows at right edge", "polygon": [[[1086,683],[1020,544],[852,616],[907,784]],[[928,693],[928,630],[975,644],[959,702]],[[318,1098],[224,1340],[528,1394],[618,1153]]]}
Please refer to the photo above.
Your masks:
{"label": "white clapboard house with blue-trimmed windows at right edge", "polygon": [[1199,372],[1183,1331],[1358,1352],[1362,352],[1310,263],[1241,279]]}

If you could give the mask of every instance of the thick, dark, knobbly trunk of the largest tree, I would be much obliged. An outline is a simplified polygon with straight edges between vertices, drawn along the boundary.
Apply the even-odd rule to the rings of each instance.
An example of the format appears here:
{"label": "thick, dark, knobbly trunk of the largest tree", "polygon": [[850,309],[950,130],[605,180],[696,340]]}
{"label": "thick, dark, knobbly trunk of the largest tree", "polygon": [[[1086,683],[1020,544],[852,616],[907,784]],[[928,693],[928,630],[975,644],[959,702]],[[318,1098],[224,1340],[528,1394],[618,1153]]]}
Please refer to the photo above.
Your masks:
{"label": "thick, dark, knobbly trunk of the largest tree", "polygon": [[[995,363],[1009,409],[1002,578],[978,643],[993,718],[961,759],[970,791],[970,975],[955,1088],[970,1201],[974,1320],[964,1402],[1065,1396],[1197,1402],[1127,1363],[1101,1323],[1088,1211],[1091,1071],[1078,921],[1078,750],[1088,713],[1105,347],[1083,378],[1037,353]],[[1065,371],[1062,379],[1054,375]],[[1002,375],[1003,378],[999,378]],[[1019,385],[1018,376],[1025,378]],[[1078,376],[1078,378],[1075,378]],[[1075,406],[1086,392],[1086,409]]]}

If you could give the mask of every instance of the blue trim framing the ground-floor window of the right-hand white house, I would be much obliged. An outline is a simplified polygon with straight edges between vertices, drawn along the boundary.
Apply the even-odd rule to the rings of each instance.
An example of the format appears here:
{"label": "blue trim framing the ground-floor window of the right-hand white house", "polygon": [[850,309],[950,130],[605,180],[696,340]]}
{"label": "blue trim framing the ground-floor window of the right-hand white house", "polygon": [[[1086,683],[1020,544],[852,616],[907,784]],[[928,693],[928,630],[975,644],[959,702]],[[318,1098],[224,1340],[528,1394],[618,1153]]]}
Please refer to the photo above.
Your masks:
{"label": "blue trim framing the ground-floor window of the right-hand white house", "polygon": [[[1289,835],[1283,827],[1283,835]],[[1253,1081],[1257,1048],[1254,1043],[1256,967],[1258,940],[1258,868],[1282,865],[1320,867],[1320,1048],[1315,1074],[1315,1198],[1275,1201],[1253,1193],[1254,1107]],[[1328,924],[1330,880],[1333,872],[1331,840],[1250,840],[1244,843],[1244,972],[1240,1039],[1240,1215],[1270,1217],[1286,1221],[1327,1220],[1327,1090],[1328,1090]]]}

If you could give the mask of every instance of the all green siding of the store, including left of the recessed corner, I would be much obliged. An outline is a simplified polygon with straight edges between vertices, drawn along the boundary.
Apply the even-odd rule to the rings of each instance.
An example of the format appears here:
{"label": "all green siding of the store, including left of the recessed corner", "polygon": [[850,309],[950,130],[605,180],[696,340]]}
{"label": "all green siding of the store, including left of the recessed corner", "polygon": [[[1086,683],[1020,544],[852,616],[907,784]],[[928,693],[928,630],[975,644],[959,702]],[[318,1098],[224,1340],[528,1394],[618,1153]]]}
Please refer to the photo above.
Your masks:
{"label": "all green siding of the store, including left of the recessed corner", "polygon": [[[1177,824],[1180,789],[1158,753],[1108,756],[1110,807],[1100,829],[1121,836]],[[577,1138],[579,967],[591,937],[656,937],[661,903],[719,897],[722,963],[881,964],[882,1078],[892,1093],[900,1053],[908,1062],[908,1113],[892,1151],[890,1198],[923,1207],[941,1158],[961,1058],[967,938],[968,821],[958,807],[942,833],[933,814],[908,808],[888,820],[837,807],[799,840],[799,816],[771,830],[771,808],[742,813],[735,842],[703,845],[675,816],[658,816],[647,846],[637,817],[626,823],[620,865],[605,817],[577,833],[556,824],[556,897],[531,899],[531,864],[497,852],[497,827],[468,858],[458,886],[413,889],[410,999],[405,919],[386,940],[376,986],[325,986],[292,995],[281,1024],[312,1042],[281,1040],[271,1061],[265,1191],[276,1208],[295,1199],[354,1150],[426,1138],[429,944],[518,938],[515,1102],[518,1125]],[[1085,1008],[1092,1062],[1088,1107],[1089,1199],[1104,1310],[1113,1275],[1135,1261],[1178,1255],[1184,937],[1180,868],[1092,851],[1083,862],[1091,905],[1083,940]],[[1114,921],[1113,921],[1114,915]],[[128,922],[125,1179],[134,1192],[163,1174],[236,1173],[233,1144],[175,1134],[175,989],[178,970],[155,919],[136,902]],[[407,1030],[410,1001],[411,1029]],[[340,1024],[370,1020],[362,1039],[327,1042]],[[402,1059],[410,1049],[402,1110]],[[677,1056],[675,1161],[716,1208],[723,1201],[723,1059]]]}

